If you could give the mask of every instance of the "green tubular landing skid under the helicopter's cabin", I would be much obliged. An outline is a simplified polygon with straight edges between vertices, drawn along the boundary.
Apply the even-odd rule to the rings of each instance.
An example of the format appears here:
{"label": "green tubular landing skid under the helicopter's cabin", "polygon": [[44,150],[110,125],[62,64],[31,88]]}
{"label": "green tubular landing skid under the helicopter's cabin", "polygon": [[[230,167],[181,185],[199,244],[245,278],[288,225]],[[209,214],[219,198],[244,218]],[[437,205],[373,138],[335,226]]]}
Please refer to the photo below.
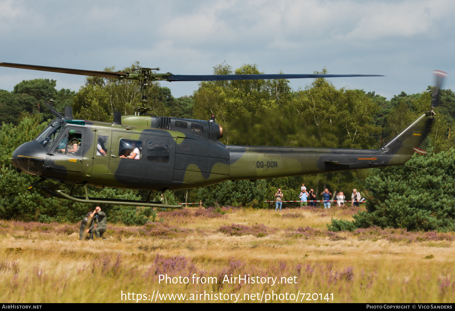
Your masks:
{"label": "green tubular landing skid under the helicopter's cabin", "polygon": [[145,207],[162,207],[162,208],[182,208],[181,205],[167,205],[167,204],[161,204],[160,201],[158,202],[149,202],[148,199],[150,197],[147,197],[147,201],[138,201],[138,200],[122,200],[122,199],[109,199],[109,198],[103,198],[103,197],[89,197],[87,193],[87,187],[84,185],[85,188],[85,197],[76,197],[73,196],[73,187],[71,187],[71,193],[68,195],[66,193],[66,190],[57,190],[57,193],[50,191],[49,187],[40,187],[41,190],[44,193],[47,193],[51,195],[52,197],[56,197],[59,199],[65,199],[65,200],[71,200],[74,202],[79,202],[79,203],[88,203],[88,204],[107,204],[107,205],[128,205],[128,206],[145,206]]}

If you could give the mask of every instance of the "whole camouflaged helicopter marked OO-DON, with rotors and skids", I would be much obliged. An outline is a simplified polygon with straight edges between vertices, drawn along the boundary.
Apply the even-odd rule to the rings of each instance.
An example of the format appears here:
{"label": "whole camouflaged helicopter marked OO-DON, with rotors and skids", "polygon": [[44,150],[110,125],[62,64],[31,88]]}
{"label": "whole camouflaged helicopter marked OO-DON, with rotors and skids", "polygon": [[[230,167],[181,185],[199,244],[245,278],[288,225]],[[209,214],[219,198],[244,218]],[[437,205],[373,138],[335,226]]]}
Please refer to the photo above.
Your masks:
{"label": "whole camouflaged helicopter marked OO-DON, with rotors and skids", "polygon": [[[59,113],[34,140],[20,145],[12,155],[19,172],[40,177],[32,185],[55,179],[71,183],[70,193],[41,189],[54,197],[91,204],[116,204],[179,208],[176,205],[150,202],[154,190],[187,189],[226,180],[277,178],[324,172],[347,171],[404,165],[415,152],[425,153],[420,143],[435,122],[433,108],[438,103],[442,79],[437,80],[430,109],[416,118],[397,136],[377,150],[268,147],[224,145],[222,127],[210,120],[160,117],[146,107],[148,81],[219,81],[247,79],[295,79],[367,77],[363,74],[229,74],[176,75],[157,74],[151,68],[137,72],[105,72],[65,69],[25,64],[0,63],[3,67],[80,74],[115,79],[138,80],[142,105],[135,115],[114,112],[112,123],[75,120],[71,107]],[[73,195],[76,184],[85,188],[85,197]],[[150,190],[145,201],[88,197],[86,185]],[[30,187],[30,188],[32,188]]]}

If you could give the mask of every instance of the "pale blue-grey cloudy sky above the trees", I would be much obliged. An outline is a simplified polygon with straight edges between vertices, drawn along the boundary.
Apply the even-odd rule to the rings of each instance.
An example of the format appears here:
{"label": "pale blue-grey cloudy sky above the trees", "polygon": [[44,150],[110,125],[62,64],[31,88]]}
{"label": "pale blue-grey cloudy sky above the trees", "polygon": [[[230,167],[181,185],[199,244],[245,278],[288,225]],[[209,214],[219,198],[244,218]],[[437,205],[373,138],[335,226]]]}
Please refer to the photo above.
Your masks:
{"label": "pale blue-grey cloudy sky above the trees", "polygon": [[[387,98],[418,93],[431,70],[452,74],[455,1],[20,1],[0,0],[0,62],[121,69],[135,60],[173,74],[258,65],[267,74],[384,74],[333,78]],[[0,89],[23,79],[78,90],[83,76],[0,67]],[[297,90],[311,81],[291,82]],[[162,82],[176,97],[197,82]]]}

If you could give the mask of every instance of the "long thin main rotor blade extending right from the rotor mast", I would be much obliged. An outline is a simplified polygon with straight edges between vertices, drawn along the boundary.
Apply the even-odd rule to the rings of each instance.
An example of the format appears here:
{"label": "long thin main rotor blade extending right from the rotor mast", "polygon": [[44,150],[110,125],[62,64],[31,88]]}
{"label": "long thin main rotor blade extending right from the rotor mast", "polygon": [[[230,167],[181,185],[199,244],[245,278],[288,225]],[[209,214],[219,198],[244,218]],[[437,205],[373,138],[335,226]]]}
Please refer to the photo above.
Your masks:
{"label": "long thin main rotor blade extending right from the rotor mast", "polygon": [[228,81],[264,79],[302,79],[302,78],[339,78],[339,77],[383,77],[380,74],[210,74],[183,75],[172,74],[168,81]]}

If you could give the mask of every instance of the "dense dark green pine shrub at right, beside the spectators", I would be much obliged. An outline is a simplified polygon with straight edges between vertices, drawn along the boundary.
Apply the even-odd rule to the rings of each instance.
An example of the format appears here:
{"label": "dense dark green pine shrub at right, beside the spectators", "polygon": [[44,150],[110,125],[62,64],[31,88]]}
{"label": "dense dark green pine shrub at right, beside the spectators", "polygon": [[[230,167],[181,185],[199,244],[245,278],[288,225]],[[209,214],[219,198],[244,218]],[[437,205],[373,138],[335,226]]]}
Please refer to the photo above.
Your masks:
{"label": "dense dark green pine shrub at right, beside the spectators", "polygon": [[455,150],[414,155],[407,165],[373,169],[365,180],[366,212],[354,222],[333,219],[330,230],[370,226],[411,230],[455,230]]}

